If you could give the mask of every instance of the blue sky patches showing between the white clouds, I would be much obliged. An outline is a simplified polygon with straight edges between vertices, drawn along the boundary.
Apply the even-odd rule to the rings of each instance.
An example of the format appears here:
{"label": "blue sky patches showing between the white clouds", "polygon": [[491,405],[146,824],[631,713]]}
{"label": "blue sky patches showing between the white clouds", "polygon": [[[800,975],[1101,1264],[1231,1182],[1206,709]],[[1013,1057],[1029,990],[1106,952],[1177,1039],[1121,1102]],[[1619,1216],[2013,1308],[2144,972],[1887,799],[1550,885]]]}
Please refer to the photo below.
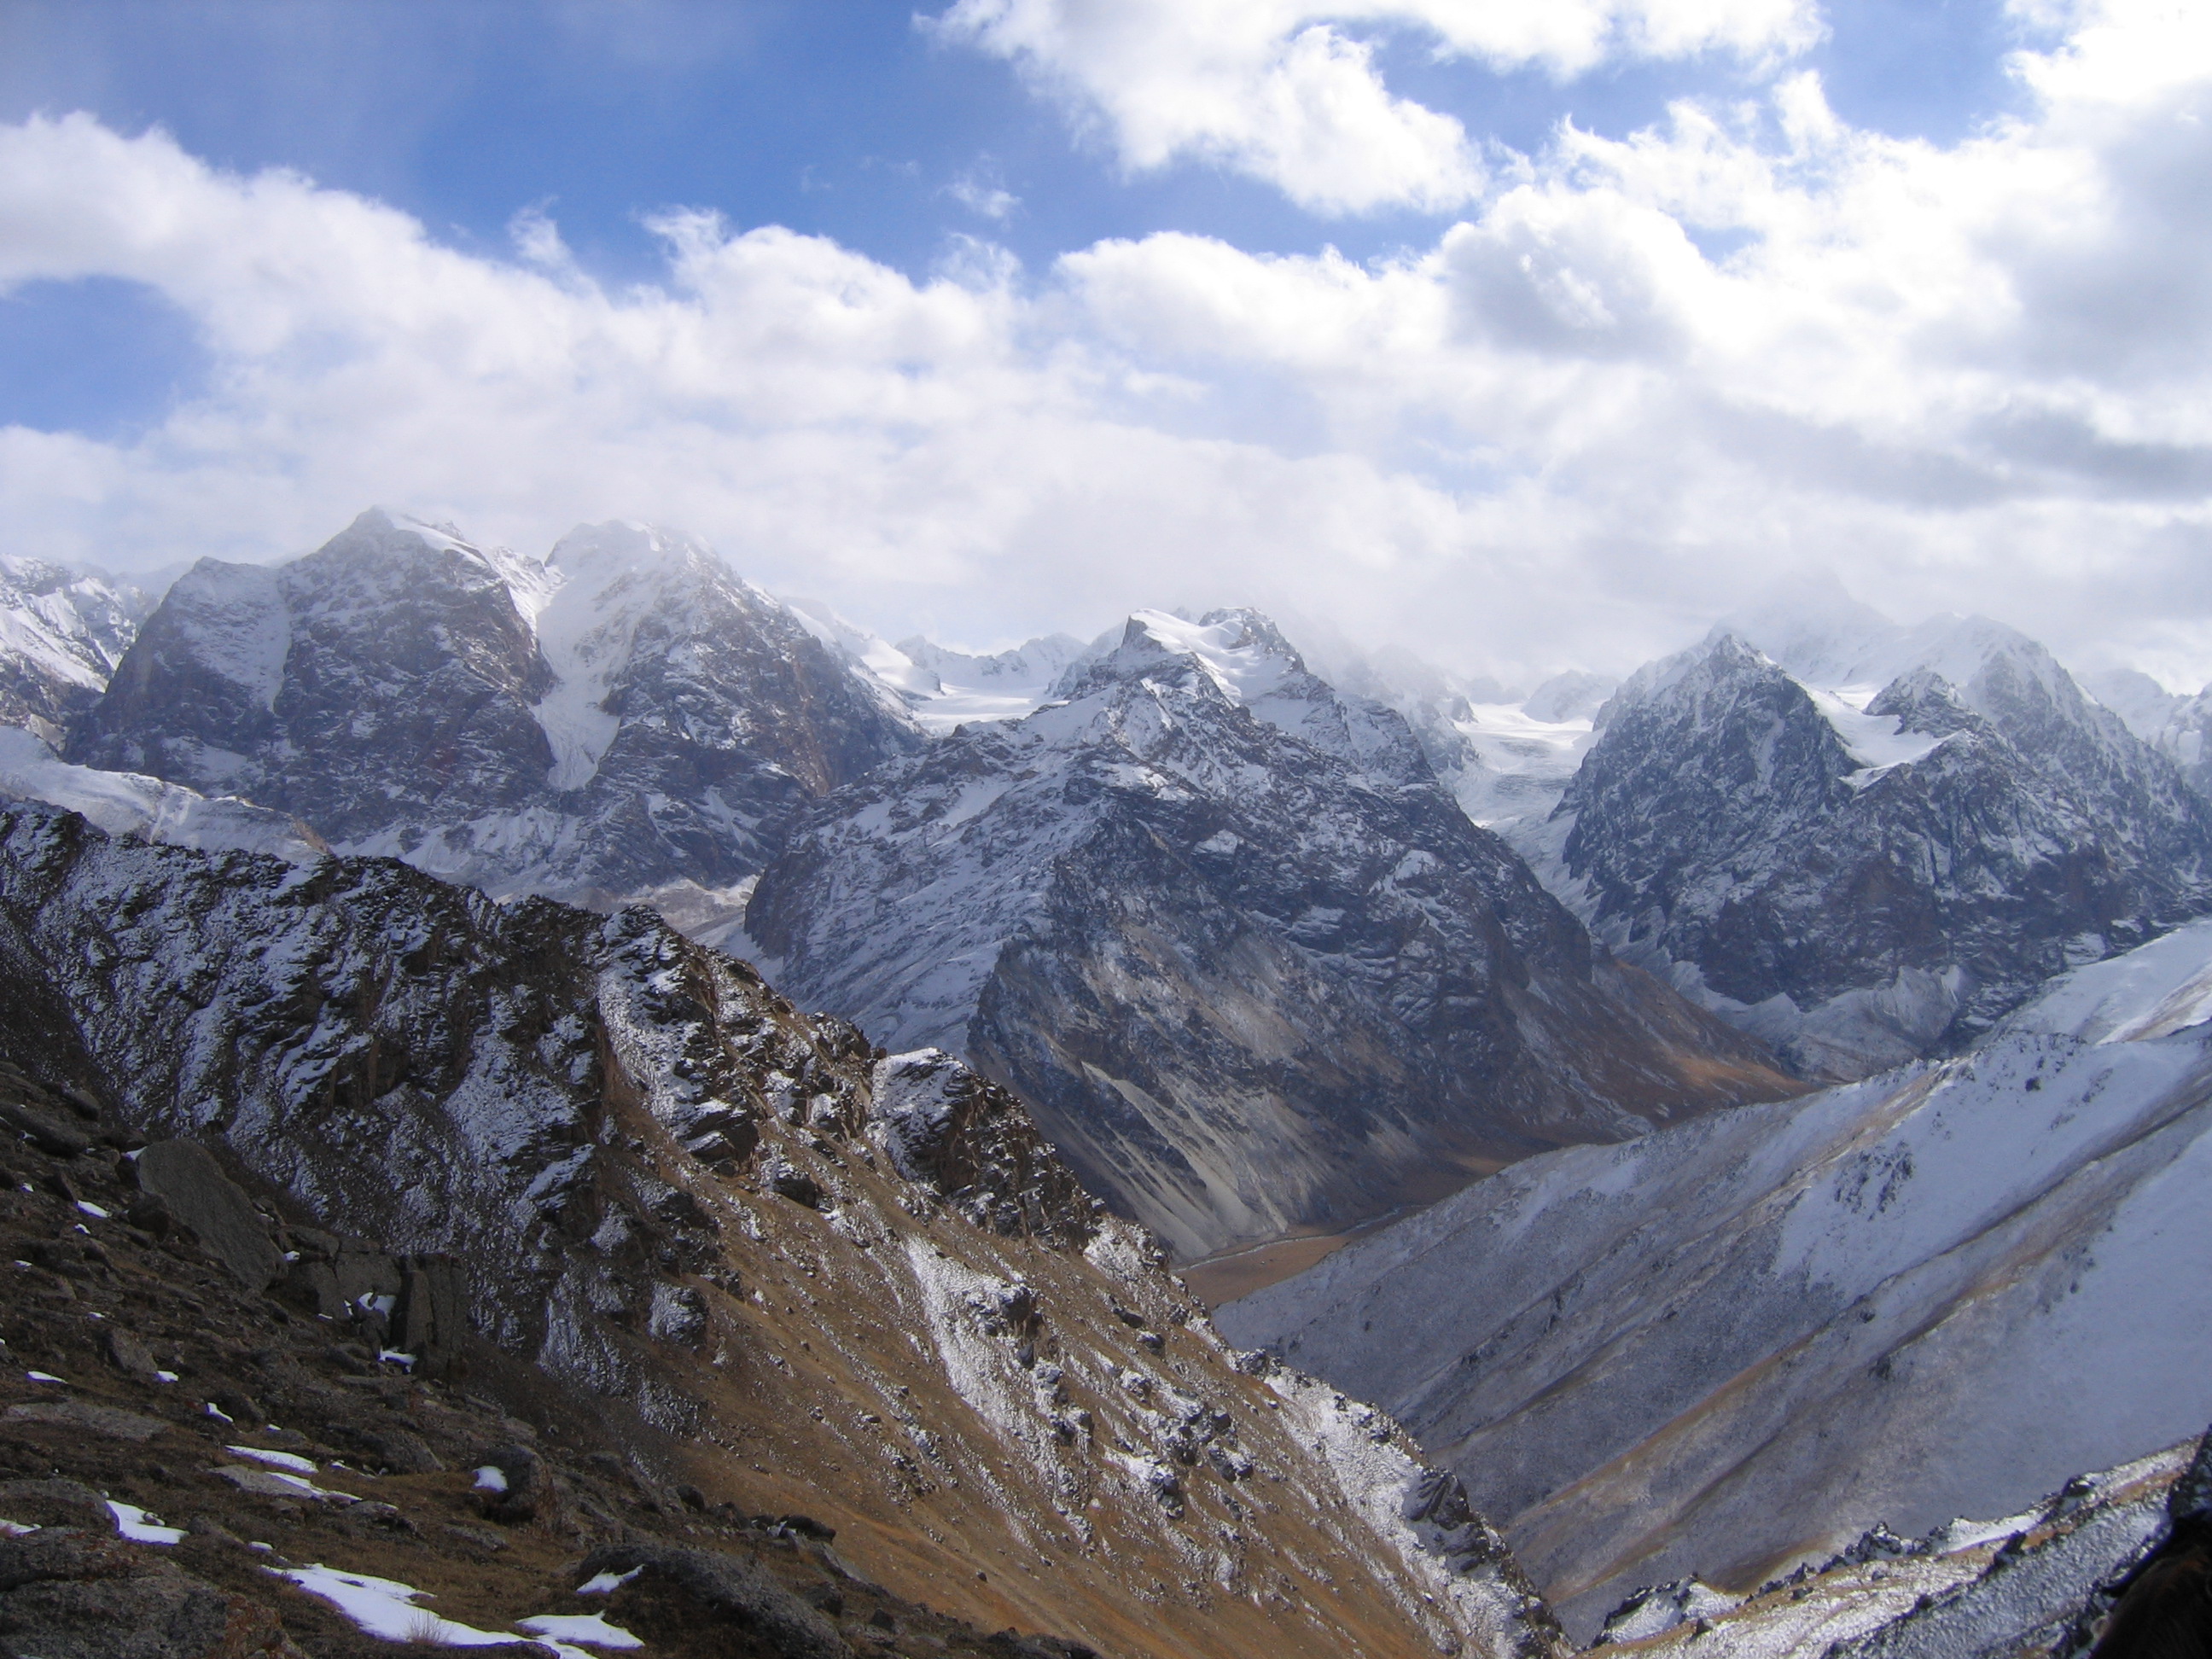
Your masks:
{"label": "blue sky patches showing between the white clouds", "polygon": [[[1155,230],[1371,259],[1449,221],[1303,212],[1206,161],[1133,175],[1009,64],[898,0],[9,0],[7,18],[0,119],[161,126],[230,170],[296,168],[389,201],[460,248],[504,250],[513,215],[544,208],[615,283],[659,272],[639,221],[666,206],[818,232],[916,276],[958,237],[1040,268]],[[1858,126],[1953,139],[2020,102],[2004,55],[2026,31],[2002,0],[1863,0],[1825,20],[1805,62]],[[1670,100],[1759,82],[1728,53],[1559,77],[1436,62],[1420,31],[1376,38],[1396,88],[1522,153],[1562,119],[1624,135]],[[1018,206],[991,215],[993,190]],[[206,369],[190,319],[133,283],[42,283],[0,305],[0,422],[131,431]]]}

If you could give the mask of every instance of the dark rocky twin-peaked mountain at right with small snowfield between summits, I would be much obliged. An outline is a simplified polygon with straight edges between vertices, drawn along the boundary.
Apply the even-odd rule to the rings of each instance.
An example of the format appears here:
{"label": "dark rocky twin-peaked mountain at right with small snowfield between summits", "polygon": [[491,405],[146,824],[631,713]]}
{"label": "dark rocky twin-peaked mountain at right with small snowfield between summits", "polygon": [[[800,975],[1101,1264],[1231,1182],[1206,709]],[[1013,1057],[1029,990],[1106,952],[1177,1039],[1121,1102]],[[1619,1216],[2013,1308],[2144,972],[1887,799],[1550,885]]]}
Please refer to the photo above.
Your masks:
{"label": "dark rocky twin-peaked mountain at right with small snowfield between summits", "polygon": [[1969,622],[1905,661],[1854,703],[1721,630],[1621,688],[1559,803],[1599,938],[1809,1077],[2212,905],[2212,810],[2048,653]]}

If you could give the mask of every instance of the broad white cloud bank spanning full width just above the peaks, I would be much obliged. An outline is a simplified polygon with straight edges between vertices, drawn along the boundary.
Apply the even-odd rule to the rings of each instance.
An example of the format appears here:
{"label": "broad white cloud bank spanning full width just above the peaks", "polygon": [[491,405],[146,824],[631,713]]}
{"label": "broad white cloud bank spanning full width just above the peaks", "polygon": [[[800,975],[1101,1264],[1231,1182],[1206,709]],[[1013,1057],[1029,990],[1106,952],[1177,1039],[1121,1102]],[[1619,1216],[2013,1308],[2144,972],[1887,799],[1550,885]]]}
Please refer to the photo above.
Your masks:
{"label": "broad white cloud bank spanning full width just above the peaks", "polygon": [[[1568,128],[1427,248],[1190,234],[907,276],[653,221],[655,285],[86,117],[0,128],[0,288],[128,279],[212,372],[137,438],[0,431],[20,551],[312,546],[383,500],[542,551],[697,529],[885,628],[1283,604],[1449,666],[1619,668],[1825,566],[2212,677],[2212,38],[2086,11],[1953,146],[1763,108]],[[1723,252],[1725,250],[1725,252]]]}

